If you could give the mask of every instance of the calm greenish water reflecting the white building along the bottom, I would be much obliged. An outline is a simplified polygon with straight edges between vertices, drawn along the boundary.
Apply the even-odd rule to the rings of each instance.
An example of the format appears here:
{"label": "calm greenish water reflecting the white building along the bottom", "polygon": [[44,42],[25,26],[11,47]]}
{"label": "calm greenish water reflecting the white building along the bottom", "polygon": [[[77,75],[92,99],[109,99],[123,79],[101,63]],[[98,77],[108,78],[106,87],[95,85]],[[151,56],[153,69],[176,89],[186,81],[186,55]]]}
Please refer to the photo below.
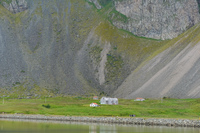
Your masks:
{"label": "calm greenish water reflecting the white building along the bottom", "polygon": [[0,120],[0,133],[200,133],[200,129]]}

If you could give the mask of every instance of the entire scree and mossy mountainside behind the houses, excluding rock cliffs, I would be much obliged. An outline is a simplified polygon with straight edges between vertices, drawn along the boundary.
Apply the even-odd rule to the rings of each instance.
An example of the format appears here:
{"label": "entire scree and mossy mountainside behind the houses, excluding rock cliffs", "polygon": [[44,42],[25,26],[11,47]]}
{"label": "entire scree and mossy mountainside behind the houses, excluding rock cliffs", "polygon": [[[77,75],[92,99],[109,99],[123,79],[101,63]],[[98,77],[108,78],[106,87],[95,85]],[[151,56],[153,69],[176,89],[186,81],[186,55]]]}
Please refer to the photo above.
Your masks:
{"label": "entire scree and mossy mountainside behind the houses, excluding rock cliffs", "polygon": [[126,17],[112,1],[7,2],[16,8],[0,6],[1,95],[200,97],[198,25],[162,41],[115,27]]}

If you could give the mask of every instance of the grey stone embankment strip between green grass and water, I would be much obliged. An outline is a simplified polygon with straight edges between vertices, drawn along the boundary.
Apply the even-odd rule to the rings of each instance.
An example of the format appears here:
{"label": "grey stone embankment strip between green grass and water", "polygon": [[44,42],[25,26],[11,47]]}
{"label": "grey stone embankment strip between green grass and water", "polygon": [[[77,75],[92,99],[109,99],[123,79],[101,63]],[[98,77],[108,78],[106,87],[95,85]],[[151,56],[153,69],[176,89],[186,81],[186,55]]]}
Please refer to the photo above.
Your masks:
{"label": "grey stone embankment strip between green grass and water", "polygon": [[168,126],[168,127],[195,127],[200,128],[200,120],[188,119],[161,119],[161,118],[122,118],[122,117],[86,117],[86,116],[45,116],[25,114],[0,114],[1,119],[23,119],[23,120],[49,120],[68,122],[108,123],[145,126]]}

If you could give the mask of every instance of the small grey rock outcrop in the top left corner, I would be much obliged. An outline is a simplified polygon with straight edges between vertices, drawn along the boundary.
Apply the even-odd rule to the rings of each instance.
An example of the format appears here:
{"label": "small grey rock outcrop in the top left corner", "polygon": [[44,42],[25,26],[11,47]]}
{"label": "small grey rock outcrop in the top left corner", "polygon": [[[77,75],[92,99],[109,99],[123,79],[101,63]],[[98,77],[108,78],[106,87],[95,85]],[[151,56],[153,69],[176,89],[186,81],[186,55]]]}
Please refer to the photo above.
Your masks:
{"label": "small grey rock outcrop in the top left corner", "polygon": [[23,12],[28,9],[26,0],[12,0],[12,2],[3,2],[3,6],[12,13]]}

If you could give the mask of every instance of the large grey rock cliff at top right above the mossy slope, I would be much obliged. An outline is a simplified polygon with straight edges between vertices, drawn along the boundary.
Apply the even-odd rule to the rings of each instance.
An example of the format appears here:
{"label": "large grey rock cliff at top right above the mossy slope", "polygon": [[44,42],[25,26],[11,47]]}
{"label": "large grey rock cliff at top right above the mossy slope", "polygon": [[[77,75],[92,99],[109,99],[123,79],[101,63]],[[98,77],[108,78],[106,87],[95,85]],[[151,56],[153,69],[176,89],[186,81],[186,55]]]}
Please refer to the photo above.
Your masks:
{"label": "large grey rock cliff at top right above the mossy slope", "polygon": [[196,0],[123,0],[115,8],[127,21],[114,20],[120,29],[137,36],[172,39],[199,22]]}

